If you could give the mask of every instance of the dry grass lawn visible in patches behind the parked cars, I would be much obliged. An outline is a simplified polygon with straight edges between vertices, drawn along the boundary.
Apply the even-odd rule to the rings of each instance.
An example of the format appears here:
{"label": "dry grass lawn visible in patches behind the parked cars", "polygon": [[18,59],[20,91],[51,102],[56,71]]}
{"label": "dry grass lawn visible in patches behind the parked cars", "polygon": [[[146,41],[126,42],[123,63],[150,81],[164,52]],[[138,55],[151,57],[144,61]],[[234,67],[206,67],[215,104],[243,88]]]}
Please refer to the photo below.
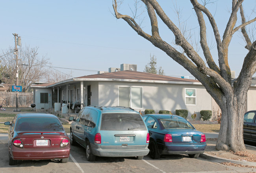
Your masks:
{"label": "dry grass lawn visible in patches behind the parked cars", "polygon": [[[0,113],[0,122],[12,121],[16,114]],[[203,133],[219,132],[220,124],[193,124],[193,126]],[[63,124],[66,133],[70,132],[70,124]],[[0,123],[0,133],[8,133],[8,125]]]}

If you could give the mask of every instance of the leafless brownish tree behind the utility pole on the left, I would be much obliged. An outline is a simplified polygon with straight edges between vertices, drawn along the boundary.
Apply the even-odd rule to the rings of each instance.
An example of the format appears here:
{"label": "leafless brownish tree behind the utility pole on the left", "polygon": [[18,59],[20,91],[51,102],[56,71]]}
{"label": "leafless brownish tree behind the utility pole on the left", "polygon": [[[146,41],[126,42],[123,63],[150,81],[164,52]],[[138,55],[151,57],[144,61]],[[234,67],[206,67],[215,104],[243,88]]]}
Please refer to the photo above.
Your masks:
{"label": "leafless brownish tree behind the utility pole on the left", "polygon": [[[15,85],[16,82],[16,61],[14,49],[10,48],[6,55],[3,55],[1,65],[4,66],[2,71],[2,81],[7,84]],[[22,90],[26,92],[30,85],[35,82],[42,81],[48,73],[45,66],[49,58],[46,56],[37,56],[38,48],[19,48],[18,50],[18,71],[19,71],[19,85]]]}

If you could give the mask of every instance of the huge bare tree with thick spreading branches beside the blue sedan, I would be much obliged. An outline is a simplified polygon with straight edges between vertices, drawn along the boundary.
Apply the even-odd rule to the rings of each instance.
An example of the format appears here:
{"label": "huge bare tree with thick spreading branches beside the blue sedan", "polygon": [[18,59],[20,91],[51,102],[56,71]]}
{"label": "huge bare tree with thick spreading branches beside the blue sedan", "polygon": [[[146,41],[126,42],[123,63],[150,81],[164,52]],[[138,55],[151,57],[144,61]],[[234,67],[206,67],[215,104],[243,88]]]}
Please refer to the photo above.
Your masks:
{"label": "huge bare tree with thick spreading branches beside the blue sedan", "polygon": [[[230,3],[230,5],[232,5],[230,17],[226,24],[223,37],[221,37],[215,19],[206,8],[206,4],[200,4],[197,0],[190,0],[200,27],[200,46],[204,53],[204,58],[206,59],[206,63],[204,63],[202,57],[200,57],[193,46],[189,44],[189,41],[186,40],[182,31],[180,31],[179,27],[177,27],[171,18],[167,16],[156,0],[141,1],[145,4],[150,18],[150,34],[146,33],[143,28],[137,24],[135,18],[119,13],[117,0],[113,1],[115,17],[117,19],[122,18],[125,20],[139,35],[167,53],[169,57],[182,65],[195,76],[202,85],[204,85],[222,111],[221,129],[216,149],[231,149],[232,151],[245,150],[243,142],[243,115],[247,92],[252,82],[252,75],[256,72],[256,41],[254,40],[253,43],[250,41],[250,37],[248,37],[245,27],[256,21],[256,18],[246,21],[242,8],[243,0],[232,0]],[[242,18],[241,24],[238,24],[237,22],[237,13],[239,9]],[[213,61],[210,48],[207,44],[206,22],[203,14],[206,15],[207,20],[210,22],[215,36],[219,66]],[[161,39],[158,31],[158,19],[162,20],[170,29],[175,37],[175,44],[179,45],[184,50],[184,53],[178,52],[177,49]],[[239,77],[237,78],[236,83],[232,86],[231,71],[228,65],[228,45],[230,44],[232,35],[239,30],[241,30],[245,37],[247,44],[245,48],[247,48],[249,52],[244,58],[243,67]]]}

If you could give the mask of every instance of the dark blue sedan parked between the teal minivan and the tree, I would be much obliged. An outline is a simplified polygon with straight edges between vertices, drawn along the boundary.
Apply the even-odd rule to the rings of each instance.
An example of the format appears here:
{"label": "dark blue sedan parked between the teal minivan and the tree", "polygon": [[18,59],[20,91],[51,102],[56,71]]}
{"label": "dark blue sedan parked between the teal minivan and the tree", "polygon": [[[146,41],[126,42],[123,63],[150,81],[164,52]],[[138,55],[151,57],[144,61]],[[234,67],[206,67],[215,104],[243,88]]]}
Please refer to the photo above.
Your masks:
{"label": "dark blue sedan parked between the teal minivan and the tree", "polygon": [[143,116],[150,134],[149,155],[153,159],[161,155],[187,154],[197,158],[206,148],[205,134],[197,131],[186,119],[170,114]]}

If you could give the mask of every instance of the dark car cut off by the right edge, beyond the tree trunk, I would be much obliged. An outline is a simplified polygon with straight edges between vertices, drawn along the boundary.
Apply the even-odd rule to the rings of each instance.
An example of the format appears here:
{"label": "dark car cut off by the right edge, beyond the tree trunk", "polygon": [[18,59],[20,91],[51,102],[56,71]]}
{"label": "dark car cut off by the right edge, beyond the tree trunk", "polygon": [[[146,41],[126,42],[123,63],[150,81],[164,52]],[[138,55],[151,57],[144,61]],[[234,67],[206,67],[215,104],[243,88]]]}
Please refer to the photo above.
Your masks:
{"label": "dark car cut off by the right edge, beyond the tree trunk", "polygon": [[243,118],[243,140],[256,142],[256,110],[245,112]]}

